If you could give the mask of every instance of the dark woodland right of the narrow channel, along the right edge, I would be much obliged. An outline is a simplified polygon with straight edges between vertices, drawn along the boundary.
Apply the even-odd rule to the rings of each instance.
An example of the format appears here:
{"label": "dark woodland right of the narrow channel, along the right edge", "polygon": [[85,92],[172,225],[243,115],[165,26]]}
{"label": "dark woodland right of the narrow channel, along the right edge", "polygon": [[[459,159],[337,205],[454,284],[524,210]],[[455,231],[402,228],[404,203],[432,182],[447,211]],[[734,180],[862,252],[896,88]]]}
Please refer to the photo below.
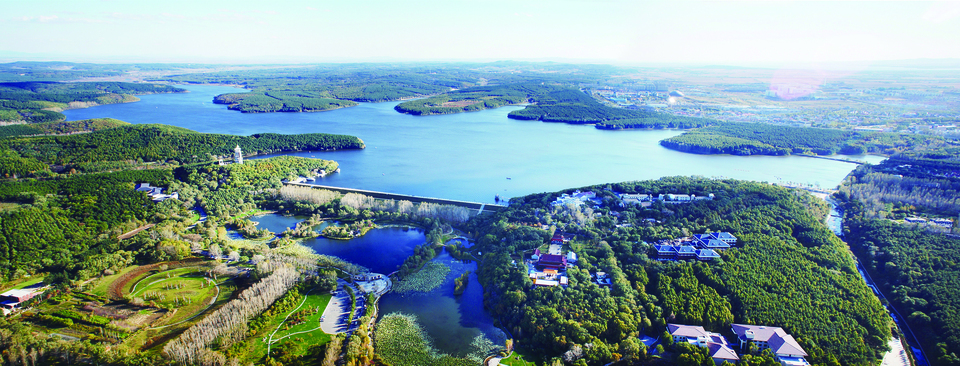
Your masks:
{"label": "dark woodland right of the narrow channel, along the right edge", "polygon": [[[960,169],[937,150],[861,166],[841,185],[847,241],[935,365],[960,365]],[[900,222],[947,219],[950,227]],[[897,220],[897,221],[894,221]]]}

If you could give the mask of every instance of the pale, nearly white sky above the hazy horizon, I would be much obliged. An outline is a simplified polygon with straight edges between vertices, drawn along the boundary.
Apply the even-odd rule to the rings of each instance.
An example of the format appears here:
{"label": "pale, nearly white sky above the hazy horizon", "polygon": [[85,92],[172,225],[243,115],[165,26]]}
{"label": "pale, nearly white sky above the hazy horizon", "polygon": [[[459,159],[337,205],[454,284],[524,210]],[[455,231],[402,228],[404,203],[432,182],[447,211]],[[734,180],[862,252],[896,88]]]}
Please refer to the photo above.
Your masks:
{"label": "pale, nearly white sky above the hazy horizon", "polygon": [[0,0],[0,60],[960,58],[960,1]]}

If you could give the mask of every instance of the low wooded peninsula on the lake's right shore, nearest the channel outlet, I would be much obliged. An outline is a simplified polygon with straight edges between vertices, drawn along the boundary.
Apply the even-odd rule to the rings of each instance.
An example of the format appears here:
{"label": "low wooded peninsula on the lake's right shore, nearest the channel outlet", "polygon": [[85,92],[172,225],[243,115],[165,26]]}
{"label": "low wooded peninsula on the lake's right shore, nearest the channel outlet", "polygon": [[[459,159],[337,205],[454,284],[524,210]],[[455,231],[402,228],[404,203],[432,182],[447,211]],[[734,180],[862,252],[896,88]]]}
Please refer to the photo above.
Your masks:
{"label": "low wooded peninsula on the lake's right shore, nearest the channel outlet", "polygon": [[660,141],[674,150],[734,155],[891,155],[917,145],[940,144],[930,136],[888,132],[790,127],[766,123],[722,122]]}

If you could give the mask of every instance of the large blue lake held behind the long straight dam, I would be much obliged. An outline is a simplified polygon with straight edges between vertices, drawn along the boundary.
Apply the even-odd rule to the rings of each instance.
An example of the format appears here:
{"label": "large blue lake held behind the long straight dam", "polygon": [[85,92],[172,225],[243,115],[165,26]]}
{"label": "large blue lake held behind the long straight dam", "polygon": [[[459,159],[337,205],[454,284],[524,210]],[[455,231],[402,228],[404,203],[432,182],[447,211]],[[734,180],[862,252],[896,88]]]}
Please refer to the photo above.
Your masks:
{"label": "large blue lake held behind the long straight dam", "polygon": [[[336,160],[341,173],[317,184],[427,197],[493,202],[531,193],[674,175],[836,186],[855,165],[799,156],[695,155],[658,141],[677,130],[607,131],[592,126],[518,121],[521,107],[440,116],[397,113],[397,102],[316,113],[240,113],[213,104],[243,91],[187,85],[190,93],[141,96],[136,103],[65,111],[68,120],[112,117],[210,133],[337,133],[358,136],[365,150],[290,155]],[[854,157],[876,162],[877,157]],[[507,179],[507,178],[510,179]]]}

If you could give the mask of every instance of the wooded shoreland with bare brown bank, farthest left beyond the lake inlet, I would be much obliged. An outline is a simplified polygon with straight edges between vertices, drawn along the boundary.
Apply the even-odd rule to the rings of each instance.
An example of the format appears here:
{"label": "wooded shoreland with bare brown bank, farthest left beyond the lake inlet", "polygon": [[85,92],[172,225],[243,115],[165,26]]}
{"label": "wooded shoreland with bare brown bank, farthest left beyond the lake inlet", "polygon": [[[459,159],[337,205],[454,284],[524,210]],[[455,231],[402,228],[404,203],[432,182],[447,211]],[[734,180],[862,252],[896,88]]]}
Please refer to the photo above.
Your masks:
{"label": "wooded shoreland with bare brown bank, farthest left beyond the lake inlet", "polygon": [[66,116],[60,111],[71,107],[132,102],[138,100],[134,95],[185,91],[169,85],[121,82],[0,83],[0,121],[62,121]]}

